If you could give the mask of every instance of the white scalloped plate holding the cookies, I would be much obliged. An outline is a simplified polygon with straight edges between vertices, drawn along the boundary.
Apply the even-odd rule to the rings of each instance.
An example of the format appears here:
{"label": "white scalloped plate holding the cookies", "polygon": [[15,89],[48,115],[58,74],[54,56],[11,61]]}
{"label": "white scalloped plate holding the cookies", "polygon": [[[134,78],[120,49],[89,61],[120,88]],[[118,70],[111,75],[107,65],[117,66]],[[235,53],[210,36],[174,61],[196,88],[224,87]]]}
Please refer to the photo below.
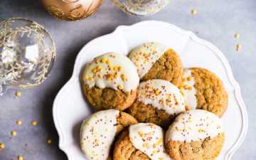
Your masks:
{"label": "white scalloped plate holding the cookies", "polygon": [[228,60],[213,44],[198,38],[191,31],[161,21],[119,26],[113,33],[96,38],[82,48],[75,60],[72,78],[58,92],[53,104],[53,119],[60,137],[60,149],[67,154],[69,160],[85,160],[79,143],[80,124],[92,113],[80,89],[79,75],[85,63],[102,53],[127,54],[135,46],[148,41],[157,41],[174,48],[181,56],[184,68],[207,68],[223,80],[229,103],[222,118],[226,139],[218,160],[231,159],[245,139],[248,120],[240,87],[233,78]]}

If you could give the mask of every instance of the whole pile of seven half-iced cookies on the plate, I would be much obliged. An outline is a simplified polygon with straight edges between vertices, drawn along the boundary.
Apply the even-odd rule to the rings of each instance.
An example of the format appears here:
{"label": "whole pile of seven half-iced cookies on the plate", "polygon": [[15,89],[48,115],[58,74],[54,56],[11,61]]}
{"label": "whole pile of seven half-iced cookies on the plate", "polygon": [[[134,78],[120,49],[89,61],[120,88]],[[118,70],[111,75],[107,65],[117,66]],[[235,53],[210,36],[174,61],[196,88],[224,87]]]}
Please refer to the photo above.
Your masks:
{"label": "whole pile of seven half-iced cookies on the plate", "polygon": [[80,132],[87,160],[212,160],[224,144],[223,82],[204,68],[183,68],[178,54],[144,43],[128,57],[105,53],[82,71],[97,110]]}

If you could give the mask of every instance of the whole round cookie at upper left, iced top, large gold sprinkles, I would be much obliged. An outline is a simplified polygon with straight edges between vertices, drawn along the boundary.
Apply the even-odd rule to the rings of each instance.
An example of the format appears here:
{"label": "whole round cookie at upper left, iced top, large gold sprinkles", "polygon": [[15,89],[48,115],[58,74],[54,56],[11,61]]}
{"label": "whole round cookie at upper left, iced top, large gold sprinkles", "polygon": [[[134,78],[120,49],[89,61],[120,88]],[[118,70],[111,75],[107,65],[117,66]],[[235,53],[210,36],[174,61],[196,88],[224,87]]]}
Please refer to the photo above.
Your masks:
{"label": "whole round cookie at upper left, iced top, large gold sprinkles", "polygon": [[139,75],[131,60],[117,53],[100,55],[83,72],[82,90],[97,110],[125,110],[137,95]]}

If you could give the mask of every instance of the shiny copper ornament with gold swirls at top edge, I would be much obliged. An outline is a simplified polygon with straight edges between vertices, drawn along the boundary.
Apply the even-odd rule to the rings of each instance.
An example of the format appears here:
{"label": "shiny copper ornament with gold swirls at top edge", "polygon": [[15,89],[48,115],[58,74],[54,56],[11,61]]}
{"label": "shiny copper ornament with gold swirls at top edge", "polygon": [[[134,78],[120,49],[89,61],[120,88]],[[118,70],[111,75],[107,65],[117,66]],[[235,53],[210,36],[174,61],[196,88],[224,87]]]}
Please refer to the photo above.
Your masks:
{"label": "shiny copper ornament with gold swirls at top edge", "polygon": [[41,0],[51,15],[65,21],[77,21],[94,14],[102,0]]}

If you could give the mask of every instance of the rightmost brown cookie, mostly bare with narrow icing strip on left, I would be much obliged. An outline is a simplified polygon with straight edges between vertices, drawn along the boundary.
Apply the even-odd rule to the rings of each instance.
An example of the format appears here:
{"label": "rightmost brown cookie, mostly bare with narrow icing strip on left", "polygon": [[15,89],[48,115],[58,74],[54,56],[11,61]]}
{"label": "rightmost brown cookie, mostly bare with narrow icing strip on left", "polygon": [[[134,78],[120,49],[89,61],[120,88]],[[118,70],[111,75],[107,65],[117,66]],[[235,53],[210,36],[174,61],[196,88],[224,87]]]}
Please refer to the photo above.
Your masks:
{"label": "rightmost brown cookie, mostly bare with narrow icing strip on left", "polygon": [[228,93],[223,82],[204,68],[184,70],[181,90],[189,110],[208,110],[221,117],[228,107]]}

